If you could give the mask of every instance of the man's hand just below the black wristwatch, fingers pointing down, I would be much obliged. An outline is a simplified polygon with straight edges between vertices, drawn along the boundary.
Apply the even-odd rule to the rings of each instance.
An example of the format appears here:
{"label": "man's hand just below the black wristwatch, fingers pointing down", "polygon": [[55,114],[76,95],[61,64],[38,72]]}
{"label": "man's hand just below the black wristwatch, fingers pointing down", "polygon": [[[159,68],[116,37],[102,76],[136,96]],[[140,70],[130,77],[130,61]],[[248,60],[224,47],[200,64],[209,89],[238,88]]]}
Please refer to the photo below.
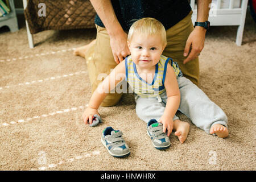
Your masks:
{"label": "man's hand just below the black wristwatch, fingers pointing down", "polygon": [[[204,27],[196,26],[191,34],[188,36],[188,40],[183,53],[185,57],[188,57],[183,61],[183,64],[188,63],[188,61],[191,61],[193,59],[196,59],[196,57],[200,55],[200,52],[204,48],[205,32],[206,29]],[[189,53],[190,49],[191,52]]]}

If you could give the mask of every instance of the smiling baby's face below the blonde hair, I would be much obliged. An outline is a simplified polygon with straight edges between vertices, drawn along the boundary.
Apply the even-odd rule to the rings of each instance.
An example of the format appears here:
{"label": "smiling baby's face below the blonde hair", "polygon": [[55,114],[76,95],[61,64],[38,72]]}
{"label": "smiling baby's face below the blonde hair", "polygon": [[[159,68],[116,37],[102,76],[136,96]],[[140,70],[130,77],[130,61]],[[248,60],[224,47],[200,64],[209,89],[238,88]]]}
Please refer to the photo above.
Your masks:
{"label": "smiling baby's face below the blonde hair", "polygon": [[163,49],[163,45],[160,36],[142,36],[133,35],[131,42],[127,42],[130,52],[131,59],[140,68],[150,69],[160,60]]}

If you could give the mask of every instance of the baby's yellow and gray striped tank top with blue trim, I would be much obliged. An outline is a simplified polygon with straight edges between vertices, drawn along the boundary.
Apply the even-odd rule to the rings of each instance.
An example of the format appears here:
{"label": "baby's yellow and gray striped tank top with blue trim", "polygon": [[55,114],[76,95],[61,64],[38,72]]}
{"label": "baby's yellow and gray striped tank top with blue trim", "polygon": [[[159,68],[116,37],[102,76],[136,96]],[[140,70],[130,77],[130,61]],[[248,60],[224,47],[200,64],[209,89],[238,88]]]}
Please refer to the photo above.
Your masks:
{"label": "baby's yellow and gray striped tank top with blue trim", "polygon": [[[166,78],[167,63],[171,64],[176,77],[183,76],[176,61],[161,55],[158,64],[155,65],[155,75],[150,84],[138,75],[136,64],[133,63],[131,56],[127,56],[125,58],[125,80],[128,82],[133,92],[138,96],[146,98],[158,97],[160,94],[166,91],[164,88],[164,80]],[[148,76],[152,77],[152,74],[146,75],[147,78]]]}

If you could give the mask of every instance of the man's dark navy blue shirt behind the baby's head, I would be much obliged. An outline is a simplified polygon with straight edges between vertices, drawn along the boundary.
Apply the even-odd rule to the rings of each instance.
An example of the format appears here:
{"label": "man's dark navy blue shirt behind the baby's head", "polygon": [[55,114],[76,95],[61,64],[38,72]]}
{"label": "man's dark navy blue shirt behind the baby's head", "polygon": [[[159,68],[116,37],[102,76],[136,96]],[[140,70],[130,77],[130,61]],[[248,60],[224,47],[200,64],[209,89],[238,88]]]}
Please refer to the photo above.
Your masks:
{"label": "man's dark navy blue shirt behind the baby's head", "polygon": [[[119,23],[126,31],[134,23],[134,19],[146,17],[159,20],[167,30],[191,11],[188,0],[112,0],[111,2]],[[100,27],[105,27],[97,14],[94,22]]]}

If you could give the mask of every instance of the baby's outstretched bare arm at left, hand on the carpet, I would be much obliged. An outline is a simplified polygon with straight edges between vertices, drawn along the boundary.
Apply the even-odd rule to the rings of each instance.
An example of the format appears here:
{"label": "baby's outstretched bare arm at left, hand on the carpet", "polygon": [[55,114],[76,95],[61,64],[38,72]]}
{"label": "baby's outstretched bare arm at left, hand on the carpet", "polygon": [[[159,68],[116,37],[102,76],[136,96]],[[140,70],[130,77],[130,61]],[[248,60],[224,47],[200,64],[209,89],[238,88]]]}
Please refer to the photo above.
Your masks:
{"label": "baby's outstretched bare arm at left, hand on the carpet", "polygon": [[[119,63],[113,71],[102,81],[97,89],[93,92],[90,98],[88,107],[82,114],[83,121],[87,124],[92,124],[93,115],[98,114],[98,107],[100,107],[101,102],[110,93],[110,90],[114,89],[115,86],[125,78],[125,61]],[[98,114],[100,115],[100,114]]]}

